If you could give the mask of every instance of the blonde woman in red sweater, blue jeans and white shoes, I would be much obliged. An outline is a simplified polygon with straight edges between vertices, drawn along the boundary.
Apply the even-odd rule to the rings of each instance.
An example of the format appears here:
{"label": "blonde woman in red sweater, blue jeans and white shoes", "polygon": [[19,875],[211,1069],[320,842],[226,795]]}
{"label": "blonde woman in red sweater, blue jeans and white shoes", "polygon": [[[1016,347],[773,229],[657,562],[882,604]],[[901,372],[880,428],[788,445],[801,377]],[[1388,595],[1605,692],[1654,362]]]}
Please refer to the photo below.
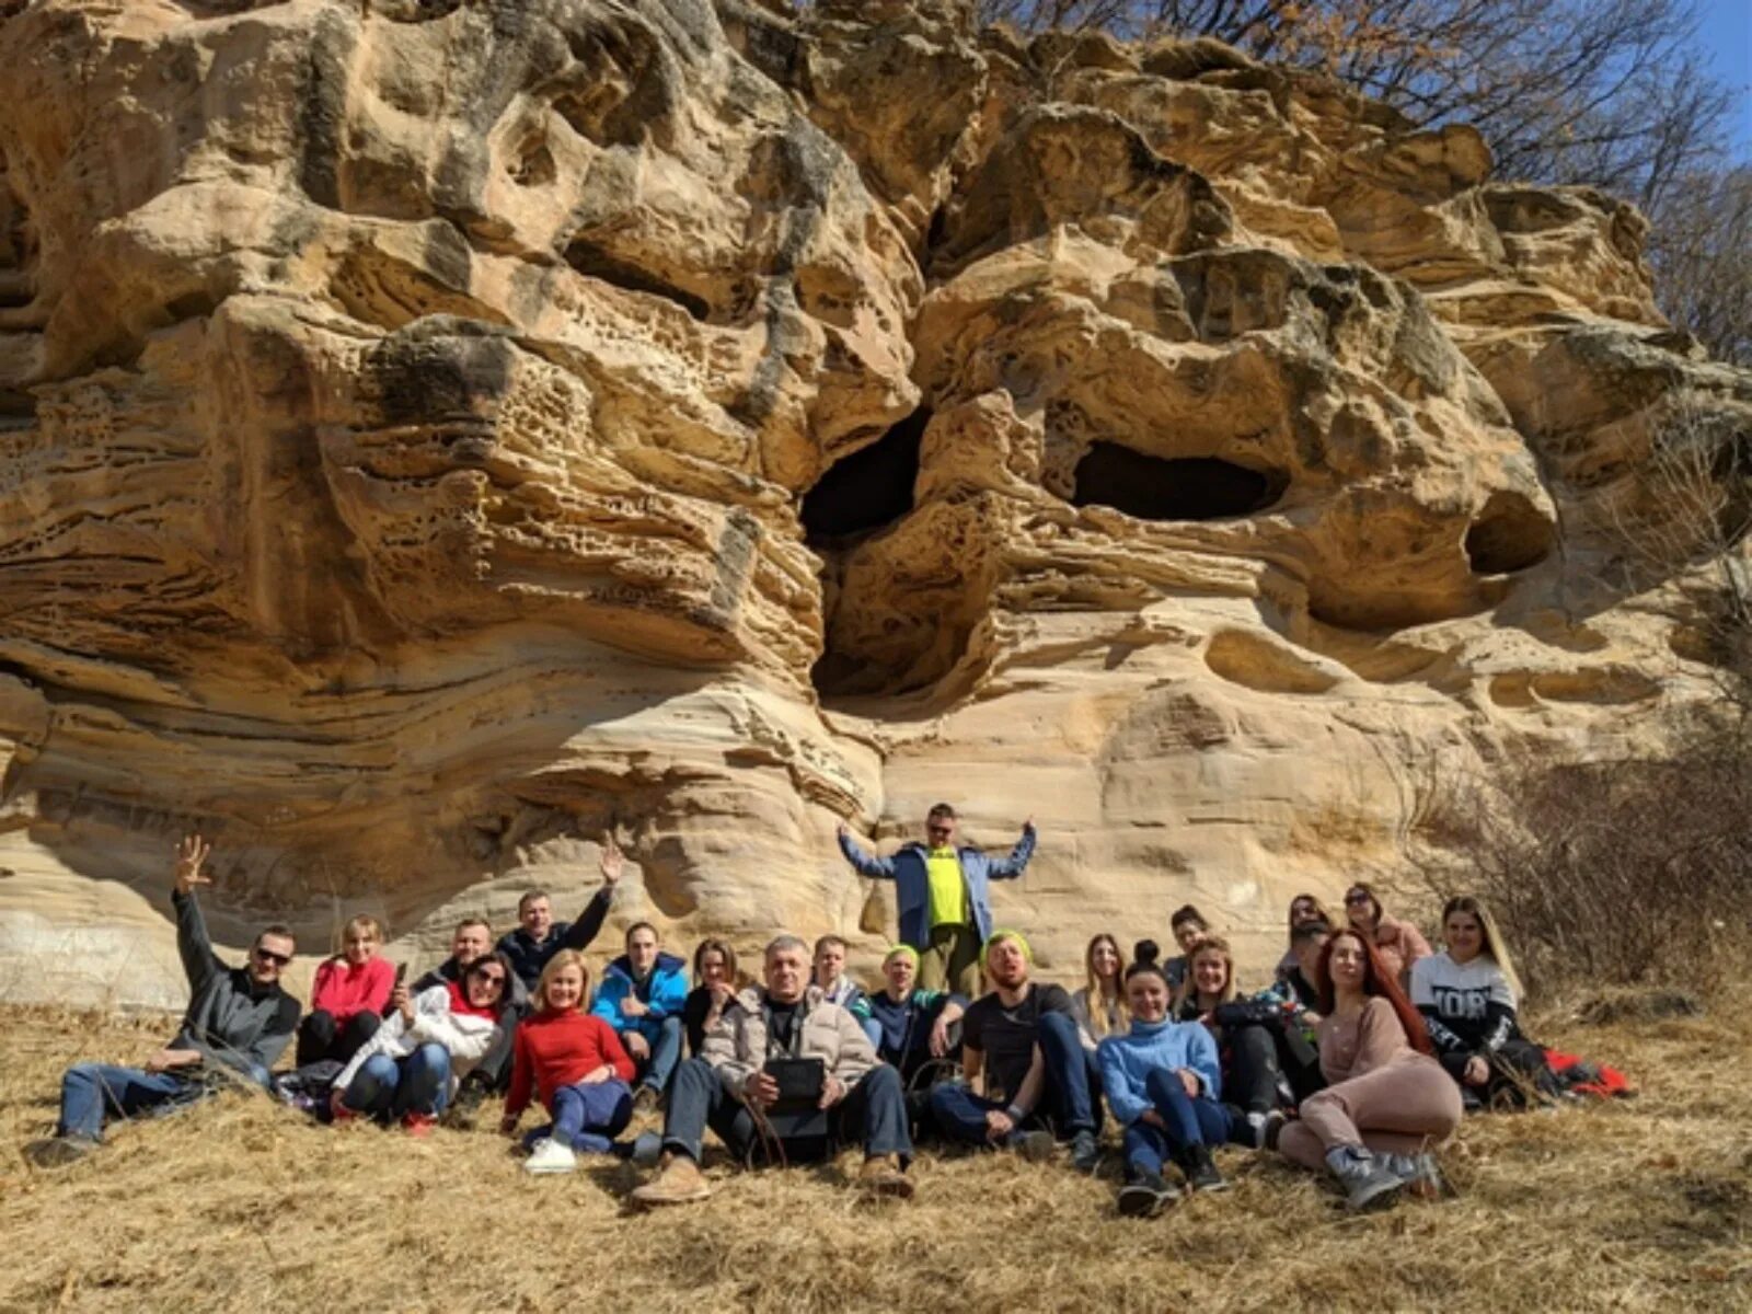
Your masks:
{"label": "blonde woman in red sweater, blue jeans and white shoes", "polygon": [[571,1172],[576,1153],[606,1155],[613,1137],[632,1121],[632,1060],[615,1028],[583,1013],[589,985],[583,958],[561,950],[541,969],[529,1002],[534,1014],[517,1023],[512,1046],[512,1091],[505,1097],[506,1135],[529,1107],[531,1093],[554,1123],[527,1137],[529,1172]]}

